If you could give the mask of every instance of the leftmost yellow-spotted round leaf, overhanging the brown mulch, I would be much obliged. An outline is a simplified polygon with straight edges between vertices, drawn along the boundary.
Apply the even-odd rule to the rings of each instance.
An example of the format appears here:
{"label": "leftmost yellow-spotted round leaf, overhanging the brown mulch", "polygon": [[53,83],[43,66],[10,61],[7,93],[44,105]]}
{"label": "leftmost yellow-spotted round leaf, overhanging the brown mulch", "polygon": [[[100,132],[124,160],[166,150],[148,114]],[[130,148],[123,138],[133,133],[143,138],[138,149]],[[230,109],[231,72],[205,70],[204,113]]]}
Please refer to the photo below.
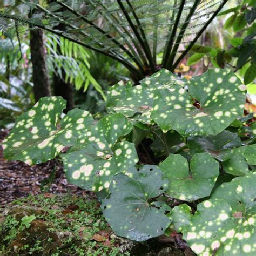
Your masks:
{"label": "leftmost yellow-spotted round leaf, overhanging the brown mulch", "polygon": [[65,146],[73,146],[93,122],[89,112],[73,109],[58,123],[65,108],[62,97],[44,97],[18,117],[3,142],[4,157],[38,164],[56,157]]}

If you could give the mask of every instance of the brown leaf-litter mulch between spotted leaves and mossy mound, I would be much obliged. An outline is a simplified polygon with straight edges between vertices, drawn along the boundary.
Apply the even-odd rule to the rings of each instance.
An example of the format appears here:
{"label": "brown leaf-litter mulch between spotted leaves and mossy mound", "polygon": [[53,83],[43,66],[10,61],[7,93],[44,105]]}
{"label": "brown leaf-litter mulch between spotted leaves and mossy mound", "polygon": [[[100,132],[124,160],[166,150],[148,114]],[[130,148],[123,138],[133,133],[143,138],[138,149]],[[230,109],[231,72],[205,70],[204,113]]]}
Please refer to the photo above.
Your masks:
{"label": "brown leaf-litter mulch between spotted leaves and mossy mound", "polygon": [[89,191],[71,185],[64,177],[63,166],[55,160],[43,164],[29,166],[22,161],[7,161],[3,159],[2,140],[7,136],[8,130],[0,131],[0,207],[17,198],[27,197],[29,194],[39,194],[40,183],[48,179],[55,165],[56,174],[49,193],[72,193],[85,197]]}

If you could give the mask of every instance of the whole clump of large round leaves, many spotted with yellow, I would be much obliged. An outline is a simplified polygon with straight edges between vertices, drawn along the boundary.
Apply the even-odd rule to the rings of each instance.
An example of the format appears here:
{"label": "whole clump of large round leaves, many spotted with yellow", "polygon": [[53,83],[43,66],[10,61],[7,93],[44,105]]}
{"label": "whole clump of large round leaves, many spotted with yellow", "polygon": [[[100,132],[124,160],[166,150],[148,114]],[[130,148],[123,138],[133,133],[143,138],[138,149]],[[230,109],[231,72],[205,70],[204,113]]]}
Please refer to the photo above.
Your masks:
{"label": "whole clump of large round leaves, many spotted with yellow", "polygon": [[242,88],[230,70],[187,81],[161,69],[112,86],[97,119],[80,109],[60,119],[65,100],[45,97],[18,117],[4,157],[60,157],[119,236],[177,231],[198,255],[255,255],[256,126]]}

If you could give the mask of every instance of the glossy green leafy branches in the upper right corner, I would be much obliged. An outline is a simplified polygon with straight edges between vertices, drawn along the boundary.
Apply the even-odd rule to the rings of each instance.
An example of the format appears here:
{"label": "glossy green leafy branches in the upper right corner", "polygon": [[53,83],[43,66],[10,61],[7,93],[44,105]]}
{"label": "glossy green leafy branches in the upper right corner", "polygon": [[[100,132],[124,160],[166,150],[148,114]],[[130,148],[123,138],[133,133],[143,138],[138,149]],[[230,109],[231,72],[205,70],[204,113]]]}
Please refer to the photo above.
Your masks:
{"label": "glossy green leafy branches in the upper right corner", "polygon": [[[222,17],[228,15],[224,29],[230,33],[231,38],[228,41],[233,47],[228,46],[227,49],[215,48],[212,51],[200,51],[200,49],[208,49],[209,47],[194,45],[191,50],[196,53],[188,58],[187,65],[194,65],[202,58],[210,59],[214,68],[225,68],[225,66],[229,68],[232,66],[235,71],[239,70],[240,75],[244,77],[245,85],[255,85],[256,5],[254,2],[242,1],[241,5],[218,14],[218,16]],[[245,69],[245,72],[243,69]]]}

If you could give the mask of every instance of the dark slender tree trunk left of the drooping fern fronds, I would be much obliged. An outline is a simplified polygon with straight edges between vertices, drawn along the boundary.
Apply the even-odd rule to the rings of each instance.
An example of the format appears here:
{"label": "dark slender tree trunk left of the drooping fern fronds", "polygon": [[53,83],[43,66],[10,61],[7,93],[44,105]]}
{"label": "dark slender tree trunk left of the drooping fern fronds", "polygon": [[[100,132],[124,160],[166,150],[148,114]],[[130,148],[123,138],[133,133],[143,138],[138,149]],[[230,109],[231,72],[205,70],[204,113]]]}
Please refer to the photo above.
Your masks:
{"label": "dark slender tree trunk left of the drooping fern fronds", "polygon": [[33,92],[37,102],[42,97],[51,96],[42,29],[30,30],[30,52],[33,65]]}

